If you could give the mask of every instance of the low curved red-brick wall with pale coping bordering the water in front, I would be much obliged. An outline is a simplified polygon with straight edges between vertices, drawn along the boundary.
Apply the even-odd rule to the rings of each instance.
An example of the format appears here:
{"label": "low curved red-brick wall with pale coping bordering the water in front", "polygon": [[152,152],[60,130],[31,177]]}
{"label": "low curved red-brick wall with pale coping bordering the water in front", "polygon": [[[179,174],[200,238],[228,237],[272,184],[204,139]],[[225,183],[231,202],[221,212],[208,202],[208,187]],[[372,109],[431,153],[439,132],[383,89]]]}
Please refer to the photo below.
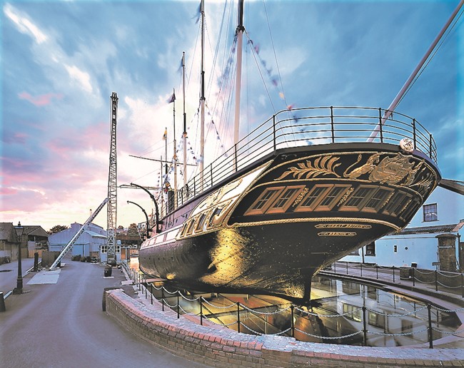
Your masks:
{"label": "low curved red-brick wall with pale coping bordering the water in front", "polygon": [[105,291],[105,299],[106,312],[136,336],[213,367],[464,366],[464,349],[351,347],[253,336],[151,310],[121,289]]}

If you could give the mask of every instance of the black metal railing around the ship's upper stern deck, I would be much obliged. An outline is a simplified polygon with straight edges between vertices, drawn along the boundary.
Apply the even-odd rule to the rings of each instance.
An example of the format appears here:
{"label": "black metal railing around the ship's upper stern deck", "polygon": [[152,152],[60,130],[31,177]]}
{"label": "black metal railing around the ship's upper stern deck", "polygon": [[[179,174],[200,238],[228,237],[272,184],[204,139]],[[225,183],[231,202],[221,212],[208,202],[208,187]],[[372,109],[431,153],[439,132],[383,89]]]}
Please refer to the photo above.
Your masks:
{"label": "black metal railing around the ship's upper stern deck", "polygon": [[[403,138],[413,141],[414,148],[437,162],[437,148],[433,136],[414,118],[393,112],[381,124],[385,110],[365,107],[313,107],[279,111],[223,155],[206,165],[203,175],[198,173],[186,187],[177,190],[177,205],[183,205],[196,195],[246,168],[259,158],[281,148],[330,143],[367,142],[377,127],[375,143],[398,145]],[[168,209],[173,210],[174,198]],[[168,211],[171,212],[171,211]],[[166,215],[163,213],[162,215]]]}

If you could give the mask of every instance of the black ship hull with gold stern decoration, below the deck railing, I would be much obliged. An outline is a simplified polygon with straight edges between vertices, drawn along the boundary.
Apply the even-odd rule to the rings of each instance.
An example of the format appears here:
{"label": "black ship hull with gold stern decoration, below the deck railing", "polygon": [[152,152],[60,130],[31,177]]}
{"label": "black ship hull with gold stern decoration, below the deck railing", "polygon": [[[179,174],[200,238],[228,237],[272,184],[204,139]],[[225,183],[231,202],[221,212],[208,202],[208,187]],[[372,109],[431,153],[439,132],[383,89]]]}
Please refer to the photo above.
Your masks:
{"label": "black ship hull with gold stern decoration, below the deck railing", "polygon": [[439,180],[395,145],[281,150],[166,219],[141,270],[187,290],[308,302],[314,274],[405,227]]}

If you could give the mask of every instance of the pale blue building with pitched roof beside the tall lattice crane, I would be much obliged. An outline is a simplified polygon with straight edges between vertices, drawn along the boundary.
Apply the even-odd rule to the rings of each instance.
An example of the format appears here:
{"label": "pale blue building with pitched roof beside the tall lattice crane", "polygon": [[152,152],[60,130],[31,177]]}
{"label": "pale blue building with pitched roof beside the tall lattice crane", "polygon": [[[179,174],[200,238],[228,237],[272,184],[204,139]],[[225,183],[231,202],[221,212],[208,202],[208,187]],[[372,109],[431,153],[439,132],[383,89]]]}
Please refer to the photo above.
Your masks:
{"label": "pale blue building with pitched roof beside the tall lattice crane", "polygon": [[[71,228],[56,232],[49,236],[49,250],[51,252],[61,252],[64,247],[71,241],[74,235],[79,232],[82,227],[79,223],[71,224]],[[121,248],[117,249],[119,257],[121,257]],[[106,262],[106,230],[99,225],[90,223],[86,229],[74,243],[71,255],[81,255],[83,257],[96,257],[101,262]]]}

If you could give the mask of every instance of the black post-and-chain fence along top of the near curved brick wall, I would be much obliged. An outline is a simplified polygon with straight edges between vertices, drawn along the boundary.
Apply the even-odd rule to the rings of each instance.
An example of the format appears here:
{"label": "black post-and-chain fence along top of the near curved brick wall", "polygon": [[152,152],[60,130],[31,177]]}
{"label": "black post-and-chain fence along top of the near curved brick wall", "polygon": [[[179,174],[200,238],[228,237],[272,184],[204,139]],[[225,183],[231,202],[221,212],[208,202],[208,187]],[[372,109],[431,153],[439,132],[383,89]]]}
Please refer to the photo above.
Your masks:
{"label": "black post-and-chain fence along top of the near curved brick wall", "polygon": [[[131,277],[131,280],[133,280],[134,284],[136,287],[138,287],[138,290],[141,290],[141,292],[145,295],[145,298],[148,298],[148,294],[150,295],[151,299],[151,305],[153,305],[153,298],[161,302],[161,310],[165,310],[166,307],[169,307],[171,310],[174,310],[177,313],[177,318],[180,318],[181,315],[191,313],[188,312],[184,309],[184,307],[181,306],[181,300],[188,302],[188,303],[196,303],[197,307],[196,310],[199,309],[198,313],[194,313],[197,317],[200,319],[200,324],[203,325],[203,321],[208,320],[208,322],[212,322],[214,324],[221,325],[223,327],[228,327],[228,328],[235,328],[237,332],[249,332],[251,334],[256,334],[256,335],[261,335],[261,334],[268,334],[268,333],[263,333],[260,331],[256,331],[255,329],[252,329],[249,325],[245,324],[243,322],[243,315],[246,315],[247,320],[251,320],[252,317],[269,317],[273,315],[289,315],[290,317],[290,326],[286,329],[283,329],[280,332],[276,332],[273,335],[287,335],[291,337],[295,337],[296,332],[299,332],[301,334],[307,335],[309,337],[313,337],[315,339],[321,339],[324,342],[335,342],[339,341],[342,342],[344,339],[348,339],[351,337],[355,337],[356,335],[361,335],[362,336],[362,344],[364,346],[368,346],[368,335],[381,335],[381,336],[389,336],[389,337],[398,337],[398,336],[412,336],[415,334],[423,334],[426,332],[427,334],[427,341],[428,341],[428,346],[430,349],[433,349],[433,332],[437,332],[440,334],[454,334],[455,336],[458,337],[464,337],[464,330],[461,331],[443,331],[442,329],[438,329],[433,327],[433,321],[435,319],[438,321],[438,315],[439,312],[445,312],[445,313],[455,313],[455,312],[460,312],[464,310],[463,308],[459,308],[456,310],[445,310],[440,307],[436,307],[433,305],[424,305],[423,307],[420,307],[418,309],[415,308],[415,310],[411,312],[405,312],[403,314],[388,314],[388,313],[382,313],[377,310],[370,309],[369,307],[358,307],[356,309],[350,310],[345,313],[338,313],[336,315],[321,315],[317,313],[310,312],[309,310],[303,310],[301,307],[298,307],[293,304],[289,304],[288,307],[283,307],[279,309],[277,306],[276,310],[273,310],[272,312],[261,312],[256,309],[251,309],[247,307],[246,305],[243,305],[240,302],[233,302],[230,305],[215,305],[208,300],[206,300],[205,297],[200,296],[200,297],[187,297],[186,295],[183,295],[180,291],[176,290],[175,292],[167,290],[165,287],[156,287],[153,285],[153,283],[148,283],[145,280],[143,280],[143,277],[141,276],[140,272],[133,270],[133,269],[128,269],[128,275]],[[155,292],[161,292],[161,297],[155,297],[154,293]],[[175,300],[175,304],[169,304],[168,300]],[[204,310],[208,309],[211,311],[217,310],[218,312],[210,312],[210,317],[207,317],[205,314]],[[403,317],[408,317],[408,316],[418,316],[420,312],[423,312],[427,310],[427,317],[425,319],[426,321],[426,326],[422,329],[416,329],[410,332],[400,332],[400,333],[388,333],[388,332],[378,332],[374,331],[372,329],[369,329],[370,326],[370,319],[372,318],[373,315],[378,315],[378,316],[383,316],[385,318],[403,318]],[[434,312],[433,312],[434,310]],[[227,316],[228,320],[231,320],[231,322],[225,323],[221,322],[218,323],[216,320],[218,320],[217,315],[221,314],[223,316]],[[213,317],[211,317],[213,316]],[[235,316],[235,317],[233,317]],[[362,329],[359,329],[358,331],[355,331],[350,334],[345,334],[345,335],[339,335],[339,336],[320,336],[316,334],[311,334],[310,332],[307,332],[303,329],[300,329],[296,327],[296,321],[298,321],[298,318],[301,317],[306,317],[306,316],[313,316],[317,318],[350,318],[351,320],[356,320],[362,324]],[[412,327],[411,327],[412,329]]]}

